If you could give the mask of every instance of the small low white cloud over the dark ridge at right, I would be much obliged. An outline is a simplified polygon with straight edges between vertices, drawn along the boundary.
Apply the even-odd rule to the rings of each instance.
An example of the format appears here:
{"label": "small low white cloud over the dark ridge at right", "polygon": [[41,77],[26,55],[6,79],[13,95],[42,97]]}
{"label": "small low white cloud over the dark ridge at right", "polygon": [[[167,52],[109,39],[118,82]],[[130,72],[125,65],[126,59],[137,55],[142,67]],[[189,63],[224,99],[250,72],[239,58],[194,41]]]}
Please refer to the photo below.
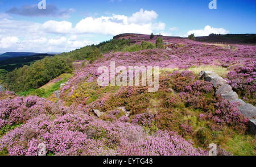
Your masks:
{"label": "small low white cloud over the dark ridge at right", "polygon": [[208,36],[210,34],[228,34],[229,31],[224,28],[213,28],[210,26],[205,26],[203,30],[190,30],[187,35],[195,34],[195,36]]}

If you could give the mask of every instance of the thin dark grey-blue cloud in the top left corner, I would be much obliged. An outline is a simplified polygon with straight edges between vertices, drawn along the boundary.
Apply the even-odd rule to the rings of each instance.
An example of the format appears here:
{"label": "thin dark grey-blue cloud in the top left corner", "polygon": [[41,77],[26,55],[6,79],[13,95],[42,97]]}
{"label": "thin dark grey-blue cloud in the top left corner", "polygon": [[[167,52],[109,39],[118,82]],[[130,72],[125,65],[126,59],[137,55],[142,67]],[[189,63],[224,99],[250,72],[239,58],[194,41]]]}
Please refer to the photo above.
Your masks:
{"label": "thin dark grey-blue cloud in the top left corner", "polygon": [[54,17],[68,17],[74,10],[73,9],[57,9],[54,4],[46,5],[46,9],[38,9],[38,5],[25,5],[22,7],[12,7],[6,13],[16,14],[22,16],[54,16]]}

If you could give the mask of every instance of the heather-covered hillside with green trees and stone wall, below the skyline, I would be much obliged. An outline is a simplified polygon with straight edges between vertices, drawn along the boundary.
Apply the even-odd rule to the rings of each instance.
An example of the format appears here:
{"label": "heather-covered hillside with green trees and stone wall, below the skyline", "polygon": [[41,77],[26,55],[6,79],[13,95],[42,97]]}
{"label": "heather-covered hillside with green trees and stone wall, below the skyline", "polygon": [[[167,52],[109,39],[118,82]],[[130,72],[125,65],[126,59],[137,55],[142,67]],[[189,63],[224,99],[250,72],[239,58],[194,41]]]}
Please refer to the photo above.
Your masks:
{"label": "heather-covered hillside with green trees and stone wall, below the skyline", "polygon": [[[37,155],[44,143],[49,156],[203,156],[214,143],[218,155],[255,156],[255,51],[121,34],[46,57],[5,78],[16,93],[0,93],[0,154]],[[152,66],[154,84],[127,86],[129,66]]]}

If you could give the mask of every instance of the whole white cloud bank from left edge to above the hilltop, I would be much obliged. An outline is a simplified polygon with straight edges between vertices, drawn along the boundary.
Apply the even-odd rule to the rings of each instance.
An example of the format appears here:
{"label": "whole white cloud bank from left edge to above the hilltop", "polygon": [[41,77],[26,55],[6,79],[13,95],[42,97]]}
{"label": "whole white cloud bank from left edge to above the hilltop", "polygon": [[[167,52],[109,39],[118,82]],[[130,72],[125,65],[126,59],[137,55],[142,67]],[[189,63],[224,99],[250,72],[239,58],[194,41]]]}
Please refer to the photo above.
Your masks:
{"label": "whole white cloud bank from left edge to above the hilltop", "polygon": [[156,12],[143,9],[131,16],[115,14],[97,18],[88,16],[75,25],[66,20],[36,23],[10,19],[9,15],[2,17],[0,18],[0,52],[67,52],[85,45],[97,44],[98,41],[90,40],[95,34],[101,36],[126,32],[151,34],[151,32],[164,32],[166,28],[165,23],[155,21],[158,17]]}

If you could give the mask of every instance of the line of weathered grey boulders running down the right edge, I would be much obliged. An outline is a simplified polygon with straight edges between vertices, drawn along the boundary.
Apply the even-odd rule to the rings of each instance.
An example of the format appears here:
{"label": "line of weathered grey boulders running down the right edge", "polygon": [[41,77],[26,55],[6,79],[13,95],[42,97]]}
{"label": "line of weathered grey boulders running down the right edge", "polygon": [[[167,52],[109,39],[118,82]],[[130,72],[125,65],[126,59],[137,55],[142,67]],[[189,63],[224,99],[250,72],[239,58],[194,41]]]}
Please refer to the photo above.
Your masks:
{"label": "line of weathered grey boulders running down the right edge", "polygon": [[253,105],[247,104],[238,98],[238,94],[232,90],[232,87],[228,85],[227,81],[218,74],[211,71],[201,71],[199,74],[201,80],[212,82],[214,89],[216,90],[215,94],[220,95],[222,98],[240,103],[238,110],[246,117],[249,121],[250,132],[256,133],[256,107]]}

